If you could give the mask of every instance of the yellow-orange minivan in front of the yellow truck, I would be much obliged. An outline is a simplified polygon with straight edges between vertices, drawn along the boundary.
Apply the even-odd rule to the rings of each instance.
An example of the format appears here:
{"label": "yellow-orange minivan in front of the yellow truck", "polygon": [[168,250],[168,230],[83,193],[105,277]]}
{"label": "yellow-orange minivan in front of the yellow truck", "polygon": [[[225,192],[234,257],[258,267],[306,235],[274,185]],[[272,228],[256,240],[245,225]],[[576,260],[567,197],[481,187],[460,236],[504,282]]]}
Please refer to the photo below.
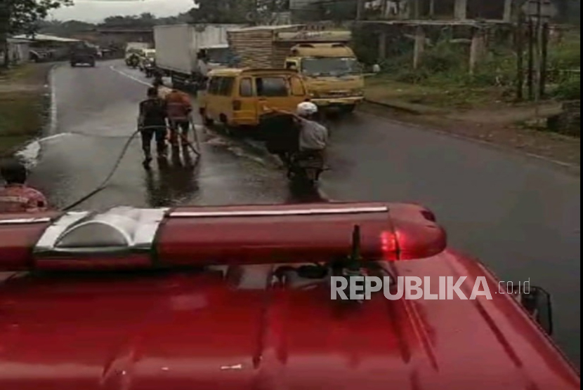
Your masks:
{"label": "yellow-orange minivan in front of the yellow truck", "polygon": [[214,69],[199,94],[204,123],[258,126],[268,108],[295,112],[309,100],[306,85],[292,69]]}

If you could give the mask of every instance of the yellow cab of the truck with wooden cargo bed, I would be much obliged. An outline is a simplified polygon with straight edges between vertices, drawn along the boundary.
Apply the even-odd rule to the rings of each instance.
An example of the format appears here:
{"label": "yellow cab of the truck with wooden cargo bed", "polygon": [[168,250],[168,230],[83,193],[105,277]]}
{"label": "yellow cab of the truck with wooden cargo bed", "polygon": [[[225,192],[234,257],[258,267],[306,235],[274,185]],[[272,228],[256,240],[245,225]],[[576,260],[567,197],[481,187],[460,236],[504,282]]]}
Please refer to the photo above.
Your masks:
{"label": "yellow cab of the truck with wooden cargo bed", "polygon": [[352,112],[364,99],[365,78],[358,58],[344,43],[299,43],[289,51],[286,69],[296,69],[320,107]]}

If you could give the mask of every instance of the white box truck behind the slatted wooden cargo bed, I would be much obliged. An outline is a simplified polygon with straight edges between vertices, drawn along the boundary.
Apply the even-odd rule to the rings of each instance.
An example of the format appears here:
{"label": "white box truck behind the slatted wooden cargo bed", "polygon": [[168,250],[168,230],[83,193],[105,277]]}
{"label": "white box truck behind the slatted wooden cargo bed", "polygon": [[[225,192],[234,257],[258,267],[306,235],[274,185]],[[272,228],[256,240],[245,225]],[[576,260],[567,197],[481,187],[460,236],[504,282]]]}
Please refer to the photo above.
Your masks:
{"label": "white box truck behind the slatted wooden cargo bed", "polygon": [[196,90],[208,70],[228,66],[227,31],[240,27],[219,24],[155,26],[156,67],[171,78],[174,87]]}

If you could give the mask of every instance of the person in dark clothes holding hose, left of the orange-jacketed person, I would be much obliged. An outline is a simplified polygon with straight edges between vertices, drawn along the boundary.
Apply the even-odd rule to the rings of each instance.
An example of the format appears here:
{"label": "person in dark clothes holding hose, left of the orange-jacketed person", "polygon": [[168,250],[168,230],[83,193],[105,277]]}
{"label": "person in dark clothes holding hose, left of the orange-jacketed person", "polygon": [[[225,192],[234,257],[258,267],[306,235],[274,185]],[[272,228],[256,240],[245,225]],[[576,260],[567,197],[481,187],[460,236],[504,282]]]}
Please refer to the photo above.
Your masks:
{"label": "person in dark clothes holding hose, left of the orange-jacketed person", "polygon": [[142,149],[144,151],[144,165],[152,161],[152,138],[156,140],[157,155],[166,157],[166,101],[158,97],[157,88],[148,88],[148,98],[140,102],[138,128],[142,135]]}

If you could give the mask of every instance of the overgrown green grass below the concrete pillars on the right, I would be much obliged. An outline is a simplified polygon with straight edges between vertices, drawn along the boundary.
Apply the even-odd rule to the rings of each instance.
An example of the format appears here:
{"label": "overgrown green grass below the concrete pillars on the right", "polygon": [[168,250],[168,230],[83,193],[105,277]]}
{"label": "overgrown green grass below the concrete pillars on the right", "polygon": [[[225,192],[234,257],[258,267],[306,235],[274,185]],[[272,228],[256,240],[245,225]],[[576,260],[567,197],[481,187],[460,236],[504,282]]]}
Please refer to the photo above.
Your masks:
{"label": "overgrown green grass below the concrete pillars on the right", "polygon": [[[365,96],[375,101],[401,101],[450,110],[514,107],[516,101],[516,53],[509,47],[493,47],[473,74],[467,55],[447,40],[424,53],[419,69],[412,69],[412,53],[403,53],[381,64],[383,72],[367,78]],[[549,47],[547,100],[580,95],[580,35],[569,32]],[[526,90],[524,91],[526,96]],[[522,102],[519,105],[528,105]]]}

